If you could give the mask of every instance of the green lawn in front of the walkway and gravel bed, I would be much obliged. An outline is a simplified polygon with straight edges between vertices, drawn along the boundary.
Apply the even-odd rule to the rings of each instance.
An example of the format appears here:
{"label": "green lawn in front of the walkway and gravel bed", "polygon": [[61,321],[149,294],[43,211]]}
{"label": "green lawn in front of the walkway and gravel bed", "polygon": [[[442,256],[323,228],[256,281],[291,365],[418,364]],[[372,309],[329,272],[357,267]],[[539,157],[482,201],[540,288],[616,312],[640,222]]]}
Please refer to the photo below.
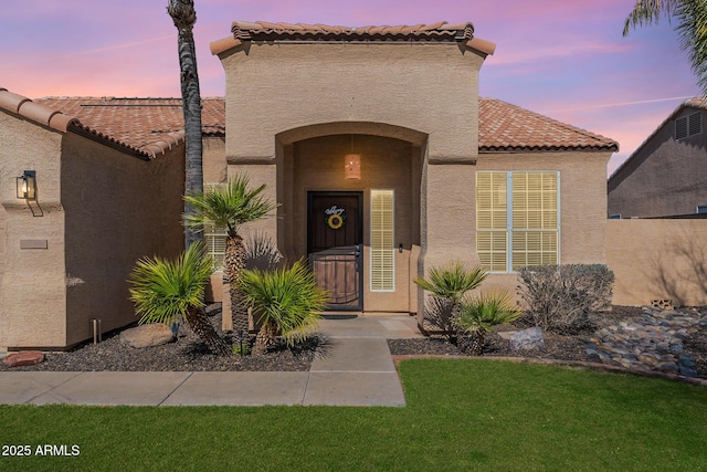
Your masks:
{"label": "green lawn in front of the walkway and gravel bed", "polygon": [[400,371],[405,408],[0,406],[2,444],[80,447],[0,470],[707,470],[706,387],[478,359]]}

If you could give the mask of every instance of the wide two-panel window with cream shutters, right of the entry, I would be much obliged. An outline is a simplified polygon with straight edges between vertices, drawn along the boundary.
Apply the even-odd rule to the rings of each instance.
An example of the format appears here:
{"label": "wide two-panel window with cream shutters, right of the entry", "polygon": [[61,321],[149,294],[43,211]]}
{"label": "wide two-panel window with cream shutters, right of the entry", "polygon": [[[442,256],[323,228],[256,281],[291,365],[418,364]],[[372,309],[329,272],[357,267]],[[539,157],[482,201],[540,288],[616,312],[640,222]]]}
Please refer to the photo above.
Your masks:
{"label": "wide two-panel window with cream shutters, right of the entry", "polygon": [[476,250],[490,272],[559,260],[556,171],[477,172]]}

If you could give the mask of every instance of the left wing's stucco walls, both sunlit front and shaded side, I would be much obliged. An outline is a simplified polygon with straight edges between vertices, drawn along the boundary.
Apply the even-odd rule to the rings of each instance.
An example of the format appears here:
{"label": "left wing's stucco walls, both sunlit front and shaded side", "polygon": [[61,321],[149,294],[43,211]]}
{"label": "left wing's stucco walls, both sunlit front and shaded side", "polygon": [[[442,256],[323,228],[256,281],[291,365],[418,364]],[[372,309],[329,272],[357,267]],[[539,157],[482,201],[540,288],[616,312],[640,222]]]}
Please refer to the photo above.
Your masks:
{"label": "left wing's stucco walls, both sunlit front and shaded side", "polygon": [[[173,256],[183,146],[154,161],[0,113],[0,346],[62,348],[136,321],[126,280],[140,256]],[[15,177],[36,171],[32,211]],[[27,245],[45,249],[23,249]]]}

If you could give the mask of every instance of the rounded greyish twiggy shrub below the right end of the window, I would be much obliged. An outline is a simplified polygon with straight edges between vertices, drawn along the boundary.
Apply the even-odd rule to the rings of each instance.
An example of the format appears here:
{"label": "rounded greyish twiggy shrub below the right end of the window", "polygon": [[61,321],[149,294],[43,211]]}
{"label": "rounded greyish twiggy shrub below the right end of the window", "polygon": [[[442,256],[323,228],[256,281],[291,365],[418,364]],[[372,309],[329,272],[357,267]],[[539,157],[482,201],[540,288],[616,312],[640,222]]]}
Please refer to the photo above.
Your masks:
{"label": "rounded greyish twiggy shrub below the right end of the window", "polygon": [[547,331],[578,334],[591,329],[591,314],[611,306],[614,274],[606,265],[532,265],[520,269],[518,276],[524,308]]}

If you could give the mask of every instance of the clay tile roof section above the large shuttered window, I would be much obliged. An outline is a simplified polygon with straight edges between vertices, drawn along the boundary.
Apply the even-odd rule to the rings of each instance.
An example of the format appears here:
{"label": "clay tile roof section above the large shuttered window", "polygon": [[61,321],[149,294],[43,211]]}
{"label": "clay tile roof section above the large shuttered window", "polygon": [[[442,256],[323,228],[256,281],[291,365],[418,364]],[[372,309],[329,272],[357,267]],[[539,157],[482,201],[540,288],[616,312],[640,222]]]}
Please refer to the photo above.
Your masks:
{"label": "clay tile roof section above the large shuttered window", "polygon": [[481,98],[478,151],[619,150],[613,139],[495,98]]}

